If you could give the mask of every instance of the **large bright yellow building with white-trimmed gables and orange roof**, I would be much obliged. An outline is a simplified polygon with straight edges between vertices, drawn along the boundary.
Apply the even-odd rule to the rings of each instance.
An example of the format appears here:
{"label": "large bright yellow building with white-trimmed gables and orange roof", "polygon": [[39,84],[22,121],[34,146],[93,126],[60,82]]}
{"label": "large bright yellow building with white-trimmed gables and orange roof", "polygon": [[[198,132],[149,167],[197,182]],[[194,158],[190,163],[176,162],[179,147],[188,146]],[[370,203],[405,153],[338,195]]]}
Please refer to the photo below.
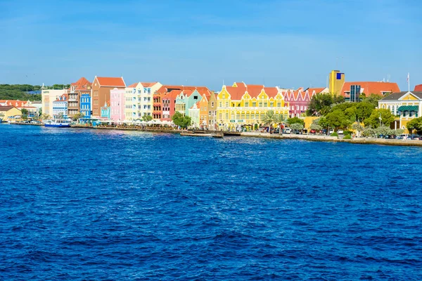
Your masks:
{"label": "large bright yellow building with white-trimmed gables and orange roof", "polygon": [[219,129],[257,129],[268,110],[288,118],[288,103],[278,87],[236,82],[233,86],[223,85],[217,96]]}

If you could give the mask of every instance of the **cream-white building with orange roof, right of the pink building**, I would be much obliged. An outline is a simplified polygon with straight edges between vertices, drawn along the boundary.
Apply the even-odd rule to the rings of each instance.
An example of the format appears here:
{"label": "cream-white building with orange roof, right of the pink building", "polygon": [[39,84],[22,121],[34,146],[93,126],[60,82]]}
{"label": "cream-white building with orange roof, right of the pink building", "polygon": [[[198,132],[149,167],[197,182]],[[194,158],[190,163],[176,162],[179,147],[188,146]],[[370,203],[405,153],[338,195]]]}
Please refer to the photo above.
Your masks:
{"label": "cream-white building with orange roof, right of the pink building", "polygon": [[132,121],[144,115],[153,115],[153,94],[160,89],[158,82],[138,82],[126,87],[124,91],[124,117]]}

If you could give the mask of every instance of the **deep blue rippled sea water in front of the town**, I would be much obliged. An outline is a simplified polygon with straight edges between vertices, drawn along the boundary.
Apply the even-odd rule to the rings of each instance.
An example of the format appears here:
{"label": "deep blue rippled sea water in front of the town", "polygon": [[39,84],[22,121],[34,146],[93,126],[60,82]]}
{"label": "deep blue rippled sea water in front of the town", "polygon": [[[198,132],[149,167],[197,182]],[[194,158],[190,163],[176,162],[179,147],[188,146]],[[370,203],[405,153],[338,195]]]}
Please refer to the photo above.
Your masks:
{"label": "deep blue rippled sea water in front of the town", "polygon": [[422,148],[0,124],[0,280],[422,280]]}

